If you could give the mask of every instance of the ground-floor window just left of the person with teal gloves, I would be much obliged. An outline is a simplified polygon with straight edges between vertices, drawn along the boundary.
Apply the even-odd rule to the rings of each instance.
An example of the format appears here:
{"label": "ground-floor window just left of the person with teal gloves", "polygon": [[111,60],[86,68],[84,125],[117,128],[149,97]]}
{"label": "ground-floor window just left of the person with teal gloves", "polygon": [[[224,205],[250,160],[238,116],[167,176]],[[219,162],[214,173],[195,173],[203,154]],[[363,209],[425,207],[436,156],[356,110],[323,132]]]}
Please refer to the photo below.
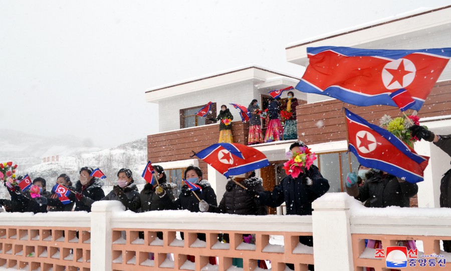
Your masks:
{"label": "ground-floor window just left of the person with teal gloves", "polygon": [[[316,161],[316,160],[315,160]],[[343,192],[346,175],[356,171],[359,162],[352,152],[346,151],[318,154],[321,175],[329,180],[329,192]]]}

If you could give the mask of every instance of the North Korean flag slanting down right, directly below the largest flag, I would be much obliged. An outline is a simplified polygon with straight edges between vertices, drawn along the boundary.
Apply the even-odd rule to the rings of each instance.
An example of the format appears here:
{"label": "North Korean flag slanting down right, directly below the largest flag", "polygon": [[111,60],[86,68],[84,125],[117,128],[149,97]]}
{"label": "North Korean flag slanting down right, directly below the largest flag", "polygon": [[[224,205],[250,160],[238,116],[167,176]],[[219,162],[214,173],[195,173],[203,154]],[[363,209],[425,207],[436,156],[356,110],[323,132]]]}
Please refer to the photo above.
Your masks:
{"label": "North Korean flag slanting down right, directly below the largest flag", "polygon": [[364,166],[376,168],[408,182],[424,180],[429,157],[418,155],[391,132],[369,123],[345,108],[349,150]]}

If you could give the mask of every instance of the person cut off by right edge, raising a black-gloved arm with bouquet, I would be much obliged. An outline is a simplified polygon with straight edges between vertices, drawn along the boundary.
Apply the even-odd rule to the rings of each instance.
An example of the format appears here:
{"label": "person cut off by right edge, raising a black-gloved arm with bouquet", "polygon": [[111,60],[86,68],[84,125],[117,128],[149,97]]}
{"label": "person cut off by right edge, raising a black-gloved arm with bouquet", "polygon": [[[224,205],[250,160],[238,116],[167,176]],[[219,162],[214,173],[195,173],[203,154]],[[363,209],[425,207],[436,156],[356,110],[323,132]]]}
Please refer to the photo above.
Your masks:
{"label": "person cut off by right edge, raising a black-gloved arm with bouquet", "polygon": [[[451,134],[434,134],[424,126],[419,125],[412,125],[409,129],[412,131],[412,136],[434,143],[434,145],[451,156]],[[441,177],[439,204],[440,207],[451,208],[451,169],[448,169]],[[443,250],[451,252],[451,240],[443,240]]]}

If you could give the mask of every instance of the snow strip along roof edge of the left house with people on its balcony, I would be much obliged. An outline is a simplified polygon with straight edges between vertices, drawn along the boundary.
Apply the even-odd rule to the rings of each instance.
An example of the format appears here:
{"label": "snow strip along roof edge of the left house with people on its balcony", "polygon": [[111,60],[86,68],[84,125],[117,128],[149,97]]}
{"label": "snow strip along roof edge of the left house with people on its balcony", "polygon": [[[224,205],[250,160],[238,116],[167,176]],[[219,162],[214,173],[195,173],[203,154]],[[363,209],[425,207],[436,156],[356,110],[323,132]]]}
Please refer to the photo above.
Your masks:
{"label": "snow strip along roof edge of the left house with people on its balcony", "polygon": [[180,80],[180,81],[171,82],[171,83],[168,83],[168,84],[163,84],[163,85],[150,87],[150,88],[146,89],[145,92],[155,91],[155,90],[159,90],[159,89],[162,89],[162,88],[168,88],[168,87],[176,86],[176,85],[179,85],[179,84],[190,83],[190,82],[193,82],[193,81],[198,81],[198,80],[206,79],[206,78],[209,78],[209,77],[220,76],[220,75],[223,75],[225,73],[237,72],[237,71],[241,71],[241,70],[248,69],[248,68],[253,68],[253,67],[254,68],[258,68],[258,69],[262,69],[262,70],[265,70],[265,71],[269,71],[269,72],[272,72],[272,73],[275,73],[275,74],[279,74],[281,76],[291,77],[291,78],[295,78],[295,79],[298,79],[298,80],[301,79],[301,78],[299,78],[299,75],[291,74],[291,73],[288,73],[288,72],[285,72],[285,71],[282,71],[282,70],[278,70],[278,69],[274,69],[274,68],[269,68],[269,67],[266,67],[266,66],[263,66],[263,65],[259,65],[259,64],[250,63],[250,64],[243,65],[243,66],[237,66],[237,67],[233,67],[233,68],[229,68],[229,69],[223,69],[223,70],[215,71],[215,72],[212,72],[212,73],[203,74],[201,76],[191,77],[191,78],[183,79],[183,80]]}

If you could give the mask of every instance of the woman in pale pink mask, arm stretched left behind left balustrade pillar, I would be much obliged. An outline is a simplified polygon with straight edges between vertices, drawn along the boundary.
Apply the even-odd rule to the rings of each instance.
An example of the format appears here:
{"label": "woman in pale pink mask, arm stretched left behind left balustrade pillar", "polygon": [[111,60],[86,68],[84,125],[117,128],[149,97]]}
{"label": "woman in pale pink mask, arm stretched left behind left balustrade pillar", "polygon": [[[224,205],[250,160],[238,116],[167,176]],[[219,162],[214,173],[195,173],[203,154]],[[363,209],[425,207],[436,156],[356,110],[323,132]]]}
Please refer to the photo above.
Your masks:
{"label": "woman in pale pink mask, arm stretched left behind left balustrade pillar", "polygon": [[[141,207],[141,198],[139,197],[138,187],[133,182],[133,174],[130,169],[119,169],[117,172],[117,185],[114,185],[113,190],[100,200],[118,200],[124,204],[126,210],[136,212]],[[83,197],[82,201],[86,205],[92,205],[96,200]]]}

